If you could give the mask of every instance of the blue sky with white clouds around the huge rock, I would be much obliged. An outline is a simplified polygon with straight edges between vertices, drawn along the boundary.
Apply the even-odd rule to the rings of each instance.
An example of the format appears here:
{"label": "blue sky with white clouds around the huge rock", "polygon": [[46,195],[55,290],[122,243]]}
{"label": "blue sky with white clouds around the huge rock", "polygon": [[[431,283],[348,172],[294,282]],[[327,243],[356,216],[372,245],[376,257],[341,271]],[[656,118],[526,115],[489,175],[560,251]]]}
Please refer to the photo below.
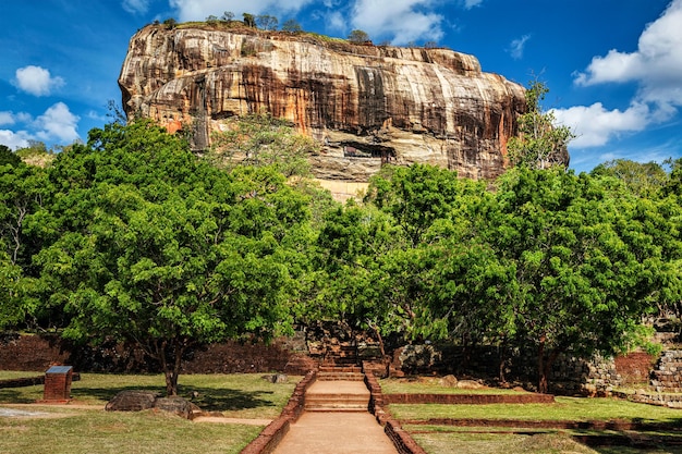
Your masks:
{"label": "blue sky with white clouds around the huge rock", "polygon": [[538,78],[550,89],[544,107],[577,135],[576,171],[682,157],[682,0],[2,0],[0,144],[86,139],[121,102],[117,78],[138,28],[226,11],[338,37],[358,28],[375,42],[436,41],[486,72]]}

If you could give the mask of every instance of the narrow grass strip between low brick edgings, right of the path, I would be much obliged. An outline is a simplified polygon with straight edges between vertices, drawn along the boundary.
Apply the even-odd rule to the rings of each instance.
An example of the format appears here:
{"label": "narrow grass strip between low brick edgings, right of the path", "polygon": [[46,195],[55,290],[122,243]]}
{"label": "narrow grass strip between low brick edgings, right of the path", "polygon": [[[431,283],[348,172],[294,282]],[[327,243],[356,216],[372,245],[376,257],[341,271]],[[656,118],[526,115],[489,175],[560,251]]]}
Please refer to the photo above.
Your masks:
{"label": "narrow grass strip between low brick edgings, right of the path", "polygon": [[392,404],[391,414],[401,420],[429,418],[517,420],[631,420],[682,426],[682,410],[635,404],[616,398],[557,397],[555,404],[441,405]]}

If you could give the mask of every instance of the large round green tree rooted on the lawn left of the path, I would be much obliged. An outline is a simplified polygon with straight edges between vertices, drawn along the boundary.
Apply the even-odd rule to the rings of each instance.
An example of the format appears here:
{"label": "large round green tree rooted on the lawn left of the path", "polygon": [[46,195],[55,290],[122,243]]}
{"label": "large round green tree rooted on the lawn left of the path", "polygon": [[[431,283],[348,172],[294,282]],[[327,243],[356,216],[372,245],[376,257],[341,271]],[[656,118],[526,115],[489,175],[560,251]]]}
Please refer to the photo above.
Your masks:
{"label": "large round green tree rooted on the lawn left of the path", "polygon": [[309,213],[281,174],[223,173],[139,121],[93,130],[52,177],[60,234],[38,261],[66,338],[136,343],[173,395],[188,349],[290,329]]}

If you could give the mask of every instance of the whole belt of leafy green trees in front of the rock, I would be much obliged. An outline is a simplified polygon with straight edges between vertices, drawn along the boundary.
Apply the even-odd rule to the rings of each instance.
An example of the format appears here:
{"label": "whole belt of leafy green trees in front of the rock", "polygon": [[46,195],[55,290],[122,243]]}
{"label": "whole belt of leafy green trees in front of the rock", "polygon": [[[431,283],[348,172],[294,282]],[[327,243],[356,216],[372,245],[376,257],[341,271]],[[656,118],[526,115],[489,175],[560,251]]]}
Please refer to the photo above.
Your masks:
{"label": "whole belt of leafy green trees in front of the rock", "polygon": [[480,182],[386,165],[342,206],[285,121],[226,124],[202,157],[144,120],[33,144],[49,164],[0,148],[0,329],[134,342],[174,394],[194,347],[340,320],[382,345],[533,348],[545,391],[559,354],[626,351],[682,314],[681,160],[575,175],[531,152]]}

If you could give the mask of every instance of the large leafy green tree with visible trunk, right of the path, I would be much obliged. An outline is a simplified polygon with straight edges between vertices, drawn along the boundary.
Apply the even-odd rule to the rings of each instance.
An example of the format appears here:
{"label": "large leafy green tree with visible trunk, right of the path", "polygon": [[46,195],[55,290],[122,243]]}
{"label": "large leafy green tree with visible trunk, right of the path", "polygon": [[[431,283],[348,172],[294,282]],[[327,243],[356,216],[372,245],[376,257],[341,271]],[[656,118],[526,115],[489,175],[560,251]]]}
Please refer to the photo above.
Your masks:
{"label": "large leafy green tree with visible trunk, right of the path", "polygon": [[660,236],[674,231],[661,206],[610,184],[515,169],[488,211],[486,243],[509,268],[495,318],[516,345],[537,348],[540,392],[558,355],[628,351],[644,332],[643,316],[678,292],[669,278],[679,242]]}

